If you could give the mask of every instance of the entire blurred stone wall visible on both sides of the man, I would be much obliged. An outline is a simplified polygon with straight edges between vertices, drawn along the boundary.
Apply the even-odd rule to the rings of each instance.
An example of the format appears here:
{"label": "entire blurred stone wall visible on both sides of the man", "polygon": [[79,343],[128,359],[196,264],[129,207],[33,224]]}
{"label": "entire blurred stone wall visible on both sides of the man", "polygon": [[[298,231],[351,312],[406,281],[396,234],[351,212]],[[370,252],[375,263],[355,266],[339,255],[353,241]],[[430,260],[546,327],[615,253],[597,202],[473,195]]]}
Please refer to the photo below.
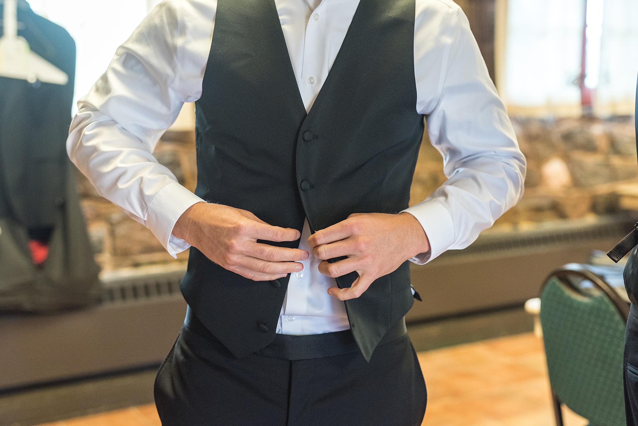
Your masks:
{"label": "entire blurred stone wall visible on both sides of the man", "polygon": [[[547,220],[616,213],[618,185],[636,182],[638,167],[632,119],[513,119],[528,158],[526,192],[516,207],[497,220],[495,231]],[[182,185],[195,190],[195,135],[167,132],[155,156]],[[422,201],[446,181],[441,155],[427,136],[421,146],[411,204]],[[96,258],[103,271],[174,262],[151,231],[100,197],[80,175],[78,188]],[[188,251],[178,255],[184,261]]]}

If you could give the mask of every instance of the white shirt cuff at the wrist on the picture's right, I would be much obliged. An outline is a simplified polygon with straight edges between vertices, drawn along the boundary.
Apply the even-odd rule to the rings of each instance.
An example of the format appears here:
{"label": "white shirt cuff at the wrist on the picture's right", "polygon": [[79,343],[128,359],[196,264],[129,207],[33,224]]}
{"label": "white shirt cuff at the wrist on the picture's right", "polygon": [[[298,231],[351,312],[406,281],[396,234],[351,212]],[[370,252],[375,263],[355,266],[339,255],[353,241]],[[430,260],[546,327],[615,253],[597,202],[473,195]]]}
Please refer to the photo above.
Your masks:
{"label": "white shirt cuff at the wrist on the picture's right", "polygon": [[436,259],[454,244],[454,222],[450,212],[436,200],[426,200],[403,210],[417,218],[426,232],[430,243],[430,250],[412,257],[410,262],[418,265]]}

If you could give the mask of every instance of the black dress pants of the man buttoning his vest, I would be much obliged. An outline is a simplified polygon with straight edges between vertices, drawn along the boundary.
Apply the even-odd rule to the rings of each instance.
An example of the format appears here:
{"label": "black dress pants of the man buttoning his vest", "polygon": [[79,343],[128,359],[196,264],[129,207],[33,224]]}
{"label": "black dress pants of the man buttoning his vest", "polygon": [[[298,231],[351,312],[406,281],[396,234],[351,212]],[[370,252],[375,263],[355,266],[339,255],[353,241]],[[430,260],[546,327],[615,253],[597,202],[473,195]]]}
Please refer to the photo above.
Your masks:
{"label": "black dress pants of the man buttoning his vest", "polygon": [[420,426],[426,386],[408,335],[357,353],[235,358],[184,326],[155,382],[163,426]]}

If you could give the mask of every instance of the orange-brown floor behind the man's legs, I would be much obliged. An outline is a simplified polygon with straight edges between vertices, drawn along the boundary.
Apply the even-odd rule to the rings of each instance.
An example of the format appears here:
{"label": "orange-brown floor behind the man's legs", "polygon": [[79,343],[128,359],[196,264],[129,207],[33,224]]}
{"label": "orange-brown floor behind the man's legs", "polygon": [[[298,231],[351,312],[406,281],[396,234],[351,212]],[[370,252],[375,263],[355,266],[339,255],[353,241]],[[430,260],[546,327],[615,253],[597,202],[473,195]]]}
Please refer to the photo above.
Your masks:
{"label": "orange-brown floor behind the man's legs", "polygon": [[[419,361],[428,392],[425,426],[555,424],[542,341],[531,334],[422,352]],[[566,411],[565,426],[587,424]],[[46,426],[160,425],[151,404]]]}

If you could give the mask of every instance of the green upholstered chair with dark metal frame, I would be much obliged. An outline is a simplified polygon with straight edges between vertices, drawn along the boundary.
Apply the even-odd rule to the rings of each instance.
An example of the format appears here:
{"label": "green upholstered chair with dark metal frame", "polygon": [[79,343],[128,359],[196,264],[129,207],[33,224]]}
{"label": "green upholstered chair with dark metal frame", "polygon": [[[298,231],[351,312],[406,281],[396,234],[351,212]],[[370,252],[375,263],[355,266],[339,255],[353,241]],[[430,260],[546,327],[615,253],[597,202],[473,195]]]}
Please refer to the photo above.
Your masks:
{"label": "green upholstered chair with dark metal frame", "polygon": [[590,426],[625,426],[623,347],[629,305],[577,264],[549,275],[540,295],[556,425],[561,404]]}

